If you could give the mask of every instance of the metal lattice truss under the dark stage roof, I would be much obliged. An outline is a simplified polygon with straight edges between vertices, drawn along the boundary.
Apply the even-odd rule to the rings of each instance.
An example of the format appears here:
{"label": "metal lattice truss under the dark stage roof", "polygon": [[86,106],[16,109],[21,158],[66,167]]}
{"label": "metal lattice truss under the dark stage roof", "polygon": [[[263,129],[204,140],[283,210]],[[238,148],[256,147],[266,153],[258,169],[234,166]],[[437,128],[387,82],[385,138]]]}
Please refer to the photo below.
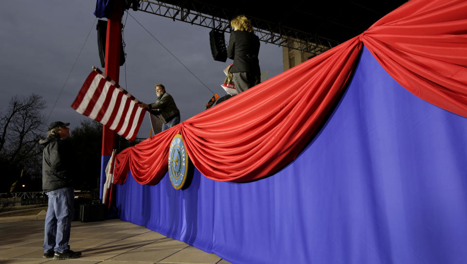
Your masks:
{"label": "metal lattice truss under the dark stage roof", "polygon": [[[185,0],[180,4],[169,4],[168,1],[130,0],[127,5],[133,5],[133,10],[179,20],[192,25],[199,25],[222,32],[230,33],[230,21],[225,9],[201,4],[193,0]],[[131,3],[132,2],[132,3]],[[180,2],[180,1],[178,1]],[[196,4],[195,4],[196,3]],[[215,14],[215,15],[208,15]],[[253,28],[261,41],[287,47],[301,52],[318,55],[339,45],[338,41],[311,35],[265,20],[251,18]]]}

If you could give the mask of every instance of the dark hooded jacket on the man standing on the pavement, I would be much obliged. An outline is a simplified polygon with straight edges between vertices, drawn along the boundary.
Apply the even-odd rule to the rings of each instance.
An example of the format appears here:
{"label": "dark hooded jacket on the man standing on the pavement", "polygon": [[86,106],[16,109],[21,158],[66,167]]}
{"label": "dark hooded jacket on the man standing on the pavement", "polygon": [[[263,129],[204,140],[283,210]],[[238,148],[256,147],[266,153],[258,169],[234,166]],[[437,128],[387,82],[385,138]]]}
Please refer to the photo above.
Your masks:
{"label": "dark hooded jacket on the man standing on the pavement", "polygon": [[44,146],[42,154],[42,190],[47,192],[72,187],[70,149],[58,135],[49,135],[39,141]]}

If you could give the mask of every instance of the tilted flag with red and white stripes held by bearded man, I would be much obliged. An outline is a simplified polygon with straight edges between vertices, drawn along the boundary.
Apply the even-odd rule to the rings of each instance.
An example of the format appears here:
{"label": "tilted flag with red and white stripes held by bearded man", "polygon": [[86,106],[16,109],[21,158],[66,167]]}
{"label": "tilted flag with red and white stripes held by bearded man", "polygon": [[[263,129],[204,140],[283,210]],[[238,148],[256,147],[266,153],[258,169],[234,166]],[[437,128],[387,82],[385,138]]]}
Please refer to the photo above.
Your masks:
{"label": "tilted flag with red and white stripes held by bearded man", "polygon": [[72,108],[133,141],[145,113],[138,106],[139,103],[134,96],[96,68],[81,87]]}

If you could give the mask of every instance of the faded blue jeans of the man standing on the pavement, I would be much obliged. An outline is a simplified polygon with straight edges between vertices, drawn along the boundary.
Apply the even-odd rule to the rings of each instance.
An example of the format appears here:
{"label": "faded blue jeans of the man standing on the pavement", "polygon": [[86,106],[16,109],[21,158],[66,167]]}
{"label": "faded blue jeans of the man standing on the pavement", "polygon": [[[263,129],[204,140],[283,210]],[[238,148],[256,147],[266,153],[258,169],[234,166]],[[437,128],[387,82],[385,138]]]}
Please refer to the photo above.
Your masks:
{"label": "faded blue jeans of the man standing on the pavement", "polygon": [[74,217],[74,191],[61,188],[46,192],[49,207],[45,216],[44,252],[63,253],[70,249],[70,229]]}

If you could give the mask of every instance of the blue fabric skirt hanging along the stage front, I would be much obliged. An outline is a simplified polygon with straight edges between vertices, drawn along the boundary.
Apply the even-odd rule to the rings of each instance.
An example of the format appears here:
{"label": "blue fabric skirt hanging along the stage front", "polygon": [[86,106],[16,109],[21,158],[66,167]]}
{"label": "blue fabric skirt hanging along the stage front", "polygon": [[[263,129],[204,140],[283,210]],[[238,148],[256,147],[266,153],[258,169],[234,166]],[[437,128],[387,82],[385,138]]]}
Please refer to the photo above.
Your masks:
{"label": "blue fabric skirt hanging along the stage front", "polygon": [[237,263],[464,263],[467,119],[402,88],[364,48],[341,101],[276,174],[176,190],[129,175],[120,218]]}

